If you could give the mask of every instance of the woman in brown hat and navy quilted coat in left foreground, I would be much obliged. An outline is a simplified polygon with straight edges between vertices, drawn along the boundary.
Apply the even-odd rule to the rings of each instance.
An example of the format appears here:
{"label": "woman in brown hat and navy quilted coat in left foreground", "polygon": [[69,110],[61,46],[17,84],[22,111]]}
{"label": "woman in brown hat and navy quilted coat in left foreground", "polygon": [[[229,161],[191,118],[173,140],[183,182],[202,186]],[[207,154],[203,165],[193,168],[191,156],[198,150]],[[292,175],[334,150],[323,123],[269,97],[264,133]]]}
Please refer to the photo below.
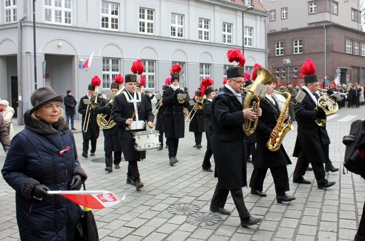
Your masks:
{"label": "woman in brown hat and navy quilted coat in left foreground", "polygon": [[33,92],[33,108],[24,113],[25,128],[13,138],[1,170],[16,190],[21,240],[73,240],[76,204],[47,192],[78,190],[87,178],[60,108],[62,101],[63,95],[50,86]]}

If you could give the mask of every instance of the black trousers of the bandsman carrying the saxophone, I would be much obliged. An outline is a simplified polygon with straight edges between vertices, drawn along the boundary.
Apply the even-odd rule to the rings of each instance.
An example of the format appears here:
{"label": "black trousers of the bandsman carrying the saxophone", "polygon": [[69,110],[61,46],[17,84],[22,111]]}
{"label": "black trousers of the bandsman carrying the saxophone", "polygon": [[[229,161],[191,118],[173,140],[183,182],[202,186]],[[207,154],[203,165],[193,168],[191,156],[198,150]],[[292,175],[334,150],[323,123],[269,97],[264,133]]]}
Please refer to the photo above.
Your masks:
{"label": "black trousers of the bandsman carrying the saxophone", "polygon": [[[268,168],[254,168],[251,175],[250,188],[262,191]],[[276,195],[283,195],[289,191],[289,177],[287,166],[270,168],[273,175]]]}

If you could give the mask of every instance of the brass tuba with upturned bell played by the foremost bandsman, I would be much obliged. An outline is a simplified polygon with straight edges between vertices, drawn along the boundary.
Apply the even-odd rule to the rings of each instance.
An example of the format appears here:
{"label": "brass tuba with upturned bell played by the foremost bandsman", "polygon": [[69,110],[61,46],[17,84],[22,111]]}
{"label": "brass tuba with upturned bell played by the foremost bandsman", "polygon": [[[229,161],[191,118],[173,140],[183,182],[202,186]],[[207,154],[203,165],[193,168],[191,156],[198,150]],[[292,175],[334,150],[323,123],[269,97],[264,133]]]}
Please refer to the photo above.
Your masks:
{"label": "brass tuba with upturned bell played by the foremost bandsman", "polygon": [[[271,83],[273,83],[273,74],[265,68],[258,68],[256,70],[256,75],[257,78],[254,81],[254,84],[251,86],[250,89],[246,89],[247,95],[245,97],[245,100],[243,101],[242,105],[243,110],[250,107],[251,100],[254,97],[254,93],[258,84],[270,85]],[[258,113],[258,109],[260,108],[260,98],[258,98],[257,96],[256,98],[258,99],[258,101],[252,103],[251,107],[253,107],[253,111]],[[258,118],[256,118],[255,121],[249,121],[245,119],[245,122],[243,123],[242,127],[243,127],[243,132],[246,134],[246,136],[251,136],[255,132],[257,121]]]}

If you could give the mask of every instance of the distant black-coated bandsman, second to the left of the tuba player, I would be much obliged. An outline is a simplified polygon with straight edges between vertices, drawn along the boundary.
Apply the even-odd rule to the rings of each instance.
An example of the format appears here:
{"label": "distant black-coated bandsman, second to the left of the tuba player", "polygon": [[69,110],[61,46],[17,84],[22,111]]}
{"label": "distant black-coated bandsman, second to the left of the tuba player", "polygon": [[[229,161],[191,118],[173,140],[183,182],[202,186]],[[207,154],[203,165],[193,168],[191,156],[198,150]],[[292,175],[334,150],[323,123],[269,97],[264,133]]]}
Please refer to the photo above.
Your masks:
{"label": "distant black-coated bandsman, second to the left of the tuba player", "polygon": [[[200,102],[203,106],[201,95],[201,91],[196,91],[196,96],[193,99],[194,103]],[[195,145],[194,147],[201,149],[201,138],[203,136],[203,132],[205,132],[204,125],[204,110],[199,109],[196,105],[192,105],[188,107],[190,114],[190,123],[189,123],[189,132],[194,132]],[[194,114],[195,113],[195,114]],[[194,115],[194,116],[193,116]]]}

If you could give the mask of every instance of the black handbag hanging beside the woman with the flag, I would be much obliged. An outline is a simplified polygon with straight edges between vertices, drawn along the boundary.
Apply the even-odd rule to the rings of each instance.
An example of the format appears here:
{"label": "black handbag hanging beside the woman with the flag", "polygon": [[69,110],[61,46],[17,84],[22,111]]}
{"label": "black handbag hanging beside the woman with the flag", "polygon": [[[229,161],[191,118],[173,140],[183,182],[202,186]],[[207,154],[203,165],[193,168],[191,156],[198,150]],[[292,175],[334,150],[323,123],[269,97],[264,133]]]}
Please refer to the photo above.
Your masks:
{"label": "black handbag hanging beside the woman with the flag", "polygon": [[[83,183],[84,190],[85,183]],[[84,207],[84,210],[77,205],[76,227],[74,241],[99,241],[98,228],[91,208]]]}

